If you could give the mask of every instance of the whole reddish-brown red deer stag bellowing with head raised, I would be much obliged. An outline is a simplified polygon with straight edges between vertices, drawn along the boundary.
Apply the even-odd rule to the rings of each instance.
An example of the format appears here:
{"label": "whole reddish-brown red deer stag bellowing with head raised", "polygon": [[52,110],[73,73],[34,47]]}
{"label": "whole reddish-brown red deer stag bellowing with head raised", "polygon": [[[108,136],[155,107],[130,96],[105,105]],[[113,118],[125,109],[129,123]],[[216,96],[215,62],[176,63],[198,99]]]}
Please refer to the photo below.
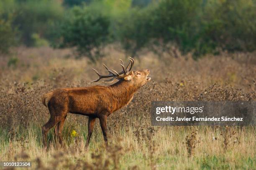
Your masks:
{"label": "whole reddish-brown red deer stag bellowing with head raised", "polygon": [[[120,65],[123,68],[121,72],[110,70],[104,64],[104,67],[108,70],[108,75],[101,75],[97,70],[93,69],[99,78],[92,82],[97,82],[102,78],[111,78],[104,80],[110,83],[114,80],[119,80],[113,85],[61,88],[42,96],[42,102],[48,107],[51,115],[49,121],[42,127],[43,144],[46,148],[47,133],[55,125],[54,133],[56,139],[62,144],[61,132],[68,112],[89,117],[86,149],[90,142],[96,118],[100,119],[103,138],[106,147],[108,147],[107,117],[121,107],[128,105],[133,98],[134,92],[151,79],[147,77],[149,70],[131,71],[134,60],[131,57],[129,57],[128,60],[130,60],[130,62],[126,67],[121,60],[122,64]],[[131,66],[129,67],[129,65]]]}

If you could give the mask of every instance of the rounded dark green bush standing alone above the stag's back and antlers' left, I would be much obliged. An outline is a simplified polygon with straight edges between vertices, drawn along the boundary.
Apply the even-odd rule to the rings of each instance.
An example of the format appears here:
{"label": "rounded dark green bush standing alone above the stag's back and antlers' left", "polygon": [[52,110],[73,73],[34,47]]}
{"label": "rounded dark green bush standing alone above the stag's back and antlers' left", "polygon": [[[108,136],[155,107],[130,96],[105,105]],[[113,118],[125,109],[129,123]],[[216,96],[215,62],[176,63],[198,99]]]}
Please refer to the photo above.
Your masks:
{"label": "rounded dark green bush standing alone above the stag's back and antlers' left", "polygon": [[76,47],[79,55],[92,61],[102,56],[101,49],[108,41],[110,20],[100,11],[74,7],[71,16],[61,27],[60,47]]}

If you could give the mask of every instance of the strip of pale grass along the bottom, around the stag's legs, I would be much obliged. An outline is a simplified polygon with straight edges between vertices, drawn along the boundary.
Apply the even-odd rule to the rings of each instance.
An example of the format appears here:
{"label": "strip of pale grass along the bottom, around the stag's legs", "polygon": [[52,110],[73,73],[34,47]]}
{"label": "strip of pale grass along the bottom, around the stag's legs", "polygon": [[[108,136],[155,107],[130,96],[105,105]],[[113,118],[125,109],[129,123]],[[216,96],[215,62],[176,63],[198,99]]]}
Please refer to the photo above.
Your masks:
{"label": "strip of pale grass along the bottom, around the stag's legs", "polygon": [[[155,127],[156,128],[156,127]],[[193,130],[198,128],[198,143],[195,152],[191,157],[187,156],[185,137]],[[76,130],[79,137],[73,138],[70,133]],[[225,129],[225,128],[223,128]],[[54,162],[60,161],[57,169],[69,169],[79,163],[92,164],[97,161],[105,162],[108,160],[110,165],[105,168],[115,169],[255,169],[255,127],[231,128],[238,134],[238,143],[230,144],[228,149],[223,149],[222,138],[218,136],[221,128],[212,127],[162,127],[153,134],[147,134],[152,137],[148,140],[140,134],[143,141],[137,142],[133,127],[128,130],[121,127],[109,135],[110,149],[105,150],[100,127],[97,125],[92,135],[89,151],[85,151],[84,143],[87,138],[86,125],[77,125],[75,123],[65,125],[64,148],[58,148],[53,145],[53,130],[48,134],[49,150],[45,151],[41,143],[41,128],[39,125],[31,125],[28,128],[16,127],[15,137],[11,137],[6,129],[0,129],[0,156],[1,160],[14,160],[18,155],[18,160],[24,160],[19,154],[24,151],[30,158],[26,160],[36,160],[40,158],[46,167],[54,166]],[[217,135],[218,140],[212,141],[212,135]],[[10,138],[13,138],[12,140]],[[121,138],[122,140],[118,140]],[[230,139],[232,140],[232,139]],[[120,147],[120,150],[115,150]],[[64,156],[55,156],[62,152]],[[93,158],[91,155],[100,155]],[[115,156],[117,155],[117,158]],[[151,159],[150,159],[151,158]],[[66,160],[66,165],[61,160]],[[67,161],[68,160],[68,161]],[[117,163],[115,163],[115,160]],[[36,169],[37,163],[33,163]],[[102,166],[104,166],[102,164]],[[101,167],[102,168],[102,167]]]}

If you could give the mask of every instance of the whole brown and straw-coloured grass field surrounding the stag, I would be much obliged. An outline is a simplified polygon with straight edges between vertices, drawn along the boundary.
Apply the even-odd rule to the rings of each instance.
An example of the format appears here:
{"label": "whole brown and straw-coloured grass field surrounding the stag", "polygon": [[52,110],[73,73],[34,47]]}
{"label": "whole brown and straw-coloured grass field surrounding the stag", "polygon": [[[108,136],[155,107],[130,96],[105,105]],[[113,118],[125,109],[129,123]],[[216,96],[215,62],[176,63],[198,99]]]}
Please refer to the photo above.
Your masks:
{"label": "whole brown and straw-coloured grass field surrounding the stag", "polygon": [[[122,52],[109,47],[97,63],[76,60],[70,50],[18,48],[0,60],[0,160],[33,161],[33,169],[256,169],[256,128],[151,126],[151,100],[256,100],[255,53],[223,52],[198,61],[191,56],[161,58],[142,53],[133,70],[151,70],[151,82],[132,102],[108,118],[105,150],[96,122],[88,151],[87,117],[69,114],[64,147],[48,134],[49,150],[41,143],[41,126],[49,112],[41,95],[59,87],[90,86],[102,63],[120,70]],[[99,82],[98,84],[100,84]]]}

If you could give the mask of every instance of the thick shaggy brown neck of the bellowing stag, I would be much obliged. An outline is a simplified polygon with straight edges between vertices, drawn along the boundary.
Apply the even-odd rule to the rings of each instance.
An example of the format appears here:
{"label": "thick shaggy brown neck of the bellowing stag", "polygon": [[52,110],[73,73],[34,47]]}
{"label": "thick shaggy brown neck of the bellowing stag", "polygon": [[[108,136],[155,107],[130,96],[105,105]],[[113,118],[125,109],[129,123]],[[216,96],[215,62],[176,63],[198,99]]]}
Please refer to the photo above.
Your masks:
{"label": "thick shaggy brown neck of the bellowing stag", "polygon": [[134,92],[136,92],[139,87],[133,85],[131,82],[120,80],[110,85],[109,88],[111,89],[112,97],[116,101],[116,108],[114,110],[118,110],[128,105],[133,98]]}

